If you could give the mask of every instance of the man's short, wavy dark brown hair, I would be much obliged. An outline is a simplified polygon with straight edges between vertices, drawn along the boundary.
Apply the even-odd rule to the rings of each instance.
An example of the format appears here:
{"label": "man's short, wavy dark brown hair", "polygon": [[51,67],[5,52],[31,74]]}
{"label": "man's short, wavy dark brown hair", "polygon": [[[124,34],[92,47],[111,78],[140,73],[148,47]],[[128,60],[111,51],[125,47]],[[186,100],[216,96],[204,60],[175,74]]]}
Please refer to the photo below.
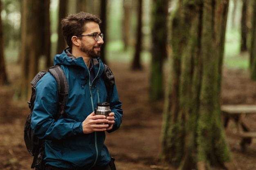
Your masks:
{"label": "man's short, wavy dark brown hair", "polygon": [[85,24],[87,22],[101,23],[98,15],[93,15],[86,12],[79,12],[68,15],[61,20],[61,29],[67,45],[72,49],[71,38],[74,35],[81,35],[85,31]]}

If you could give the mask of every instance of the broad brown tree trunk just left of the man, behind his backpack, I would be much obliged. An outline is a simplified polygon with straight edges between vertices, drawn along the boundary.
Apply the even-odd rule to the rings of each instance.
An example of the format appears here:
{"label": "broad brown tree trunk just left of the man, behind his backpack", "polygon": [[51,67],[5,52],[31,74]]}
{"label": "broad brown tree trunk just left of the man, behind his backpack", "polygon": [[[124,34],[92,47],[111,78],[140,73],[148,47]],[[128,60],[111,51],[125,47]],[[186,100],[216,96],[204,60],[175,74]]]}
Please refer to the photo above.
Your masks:
{"label": "broad brown tree trunk just left of the man, behind his backpack", "polygon": [[20,87],[16,93],[18,97],[27,99],[30,91],[29,82],[38,72],[38,57],[40,56],[40,47],[42,39],[39,34],[40,24],[38,15],[40,0],[23,0],[22,1],[22,22],[21,22],[21,75]]}

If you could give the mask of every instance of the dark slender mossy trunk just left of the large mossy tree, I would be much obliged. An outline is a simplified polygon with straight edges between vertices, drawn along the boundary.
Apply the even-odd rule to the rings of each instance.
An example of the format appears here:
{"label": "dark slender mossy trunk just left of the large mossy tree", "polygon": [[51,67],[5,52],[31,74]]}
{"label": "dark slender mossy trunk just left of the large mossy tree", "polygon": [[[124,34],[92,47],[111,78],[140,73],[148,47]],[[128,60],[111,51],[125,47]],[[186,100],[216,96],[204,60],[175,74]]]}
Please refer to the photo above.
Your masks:
{"label": "dark slender mossy trunk just left of the large mossy tree", "polygon": [[164,97],[163,61],[167,58],[168,0],[153,0],[152,9],[152,62],[150,71],[150,99]]}

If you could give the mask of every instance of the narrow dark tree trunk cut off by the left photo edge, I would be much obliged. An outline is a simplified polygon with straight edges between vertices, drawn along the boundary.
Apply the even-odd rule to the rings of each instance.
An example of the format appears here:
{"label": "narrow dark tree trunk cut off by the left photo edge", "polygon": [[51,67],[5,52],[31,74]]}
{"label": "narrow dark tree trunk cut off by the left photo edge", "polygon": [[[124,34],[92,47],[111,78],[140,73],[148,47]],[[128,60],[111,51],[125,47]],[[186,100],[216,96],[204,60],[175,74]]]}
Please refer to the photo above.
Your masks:
{"label": "narrow dark tree trunk cut off by the left photo edge", "polygon": [[[0,1],[0,9],[2,9],[1,1]],[[2,20],[0,19],[0,85],[8,83],[8,79],[5,71],[3,39],[4,38],[3,38],[3,30],[2,30]]]}

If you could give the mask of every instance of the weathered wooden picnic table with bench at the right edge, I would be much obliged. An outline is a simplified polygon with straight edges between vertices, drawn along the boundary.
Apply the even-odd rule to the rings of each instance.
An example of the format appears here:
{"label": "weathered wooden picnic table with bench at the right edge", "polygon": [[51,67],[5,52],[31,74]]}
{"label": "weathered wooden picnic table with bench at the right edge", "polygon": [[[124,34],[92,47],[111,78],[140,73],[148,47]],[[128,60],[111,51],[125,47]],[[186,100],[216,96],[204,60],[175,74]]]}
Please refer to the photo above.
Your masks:
{"label": "weathered wooden picnic table with bench at the right edge", "polygon": [[252,138],[256,138],[256,132],[252,132],[242,120],[243,115],[256,114],[256,105],[222,105],[222,115],[224,127],[227,128],[230,119],[234,120],[237,132],[234,135],[241,137],[241,147],[245,151],[245,145],[252,143]]}

